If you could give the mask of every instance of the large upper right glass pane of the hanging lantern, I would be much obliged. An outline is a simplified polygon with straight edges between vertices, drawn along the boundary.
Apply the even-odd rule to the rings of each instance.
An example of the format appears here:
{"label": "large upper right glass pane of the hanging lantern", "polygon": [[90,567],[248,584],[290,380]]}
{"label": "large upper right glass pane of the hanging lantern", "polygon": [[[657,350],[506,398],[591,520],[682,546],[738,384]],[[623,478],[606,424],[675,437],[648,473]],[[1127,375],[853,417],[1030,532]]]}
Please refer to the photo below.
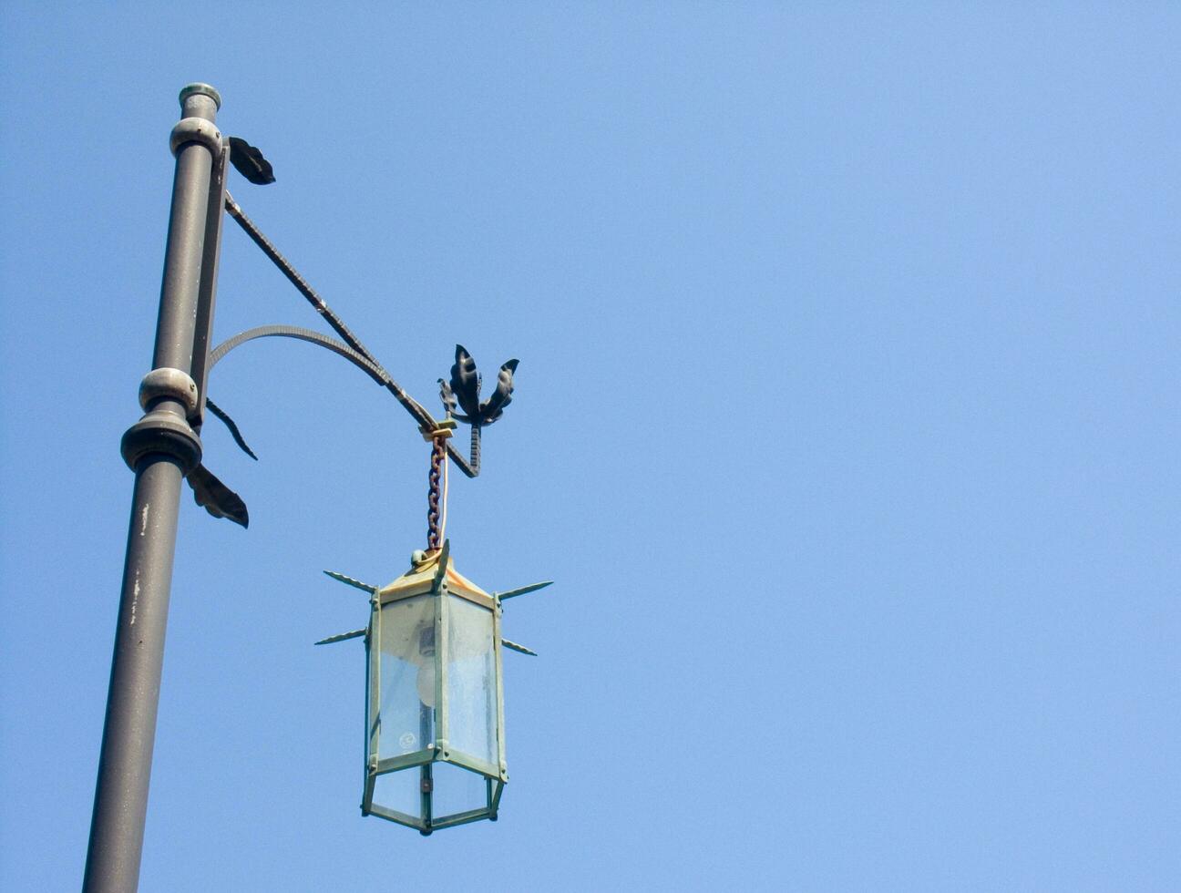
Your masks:
{"label": "large upper right glass pane of the hanging lantern", "polygon": [[448,613],[448,744],[452,750],[498,767],[492,612],[450,595]]}

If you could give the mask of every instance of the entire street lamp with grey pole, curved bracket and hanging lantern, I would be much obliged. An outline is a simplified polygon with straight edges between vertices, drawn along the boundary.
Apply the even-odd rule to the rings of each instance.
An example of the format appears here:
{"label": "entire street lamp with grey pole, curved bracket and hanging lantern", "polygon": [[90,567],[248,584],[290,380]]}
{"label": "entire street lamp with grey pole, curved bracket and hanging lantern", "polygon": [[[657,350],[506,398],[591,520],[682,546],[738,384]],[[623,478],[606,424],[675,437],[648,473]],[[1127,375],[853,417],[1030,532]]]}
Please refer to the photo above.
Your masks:
{"label": "entire street lamp with grey pole, curved bracket and hanging lantern", "polygon": [[[386,587],[334,575],[371,592],[368,626],[325,640],[366,637],[371,731],[363,811],[423,833],[496,817],[508,777],[500,647],[533,653],[500,639],[500,602],[547,585],[498,597],[485,593],[454,571],[439,523],[445,513],[439,481],[446,462],[468,477],[479,474],[481,430],[510,403],[517,361],[501,367],[494,393],[481,400],[475,363],[457,346],[450,383],[439,379],[444,417],[436,419],[393,380],[227,191],[230,164],[256,184],[274,182],[274,175],[259,150],[217,129],[217,91],[190,84],[180,100],[182,117],[170,139],[176,175],[152,369],[139,386],[144,416],[122,442],[123,457],[135,471],[135,489],[83,881],[87,893],[138,887],[182,481],[215,517],[248,523],[242,500],[202,464],[200,432],[207,410],[254,456],[237,426],[207,397],[209,371],[230,350],[274,335],[326,347],[390,391],[431,443],[428,549],[416,553],[409,574]],[[304,328],[265,326],[210,348],[223,208],[341,340]],[[449,443],[456,421],[471,425],[470,457]],[[403,715],[413,710],[418,724],[402,730]],[[398,731],[391,732],[391,725]],[[413,802],[398,787],[411,777],[417,778]]]}

